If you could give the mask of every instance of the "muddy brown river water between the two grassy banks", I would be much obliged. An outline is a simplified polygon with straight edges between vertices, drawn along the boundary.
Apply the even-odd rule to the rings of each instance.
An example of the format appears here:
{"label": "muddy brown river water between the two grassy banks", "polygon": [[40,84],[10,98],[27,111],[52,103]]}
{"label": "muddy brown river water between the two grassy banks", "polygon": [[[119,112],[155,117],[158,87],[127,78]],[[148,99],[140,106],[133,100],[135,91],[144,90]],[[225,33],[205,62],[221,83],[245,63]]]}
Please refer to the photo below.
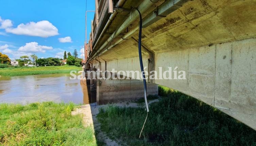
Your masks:
{"label": "muddy brown river water between the two grassy banks", "polygon": [[88,94],[90,87],[85,86],[86,81],[69,77],[69,74],[0,77],[0,103],[95,102]]}

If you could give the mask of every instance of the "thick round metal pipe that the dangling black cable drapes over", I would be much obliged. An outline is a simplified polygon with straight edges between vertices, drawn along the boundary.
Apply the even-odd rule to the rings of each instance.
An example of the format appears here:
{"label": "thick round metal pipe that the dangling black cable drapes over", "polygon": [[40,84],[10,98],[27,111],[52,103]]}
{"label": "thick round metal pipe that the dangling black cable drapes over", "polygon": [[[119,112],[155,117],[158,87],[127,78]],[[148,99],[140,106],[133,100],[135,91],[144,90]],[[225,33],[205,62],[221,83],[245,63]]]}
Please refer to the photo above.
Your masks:
{"label": "thick round metal pipe that the dangling black cable drapes over", "polygon": [[[144,13],[147,11],[155,2],[158,0],[154,0],[153,2],[151,0],[143,0],[142,3],[137,7],[141,13]],[[116,36],[118,36],[126,27],[128,27],[133,21],[135,21],[139,17],[139,13],[137,10],[133,10],[130,14],[130,17],[128,17],[122,25],[114,32],[105,42],[104,44],[96,51],[96,53],[93,54],[93,57],[95,57],[103,48],[105,48],[110,41],[112,41]]]}

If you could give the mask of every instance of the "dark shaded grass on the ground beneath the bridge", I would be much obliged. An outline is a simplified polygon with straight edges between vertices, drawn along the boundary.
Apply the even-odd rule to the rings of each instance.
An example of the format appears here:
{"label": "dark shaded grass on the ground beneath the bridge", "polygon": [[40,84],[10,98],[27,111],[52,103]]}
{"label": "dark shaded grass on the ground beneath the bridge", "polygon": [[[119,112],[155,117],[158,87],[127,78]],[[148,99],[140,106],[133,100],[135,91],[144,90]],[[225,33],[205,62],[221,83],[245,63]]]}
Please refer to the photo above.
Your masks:
{"label": "dark shaded grass on the ground beneath the bridge", "polygon": [[164,96],[144,108],[110,106],[97,118],[110,138],[132,146],[256,146],[256,131],[197,99],[166,87]]}

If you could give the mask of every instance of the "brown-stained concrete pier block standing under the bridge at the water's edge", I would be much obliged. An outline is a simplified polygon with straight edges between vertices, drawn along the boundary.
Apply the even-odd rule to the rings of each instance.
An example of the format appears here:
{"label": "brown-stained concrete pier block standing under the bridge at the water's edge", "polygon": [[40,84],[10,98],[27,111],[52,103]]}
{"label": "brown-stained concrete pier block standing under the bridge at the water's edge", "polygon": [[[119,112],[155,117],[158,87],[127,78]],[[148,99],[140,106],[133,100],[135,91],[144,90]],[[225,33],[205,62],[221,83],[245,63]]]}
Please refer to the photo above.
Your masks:
{"label": "brown-stained concrete pier block standing under the bridge at the water's edge", "polygon": [[[147,83],[147,96],[158,95],[158,86]],[[144,87],[141,80],[109,79],[97,80],[97,103],[117,103],[131,101],[144,97]]]}

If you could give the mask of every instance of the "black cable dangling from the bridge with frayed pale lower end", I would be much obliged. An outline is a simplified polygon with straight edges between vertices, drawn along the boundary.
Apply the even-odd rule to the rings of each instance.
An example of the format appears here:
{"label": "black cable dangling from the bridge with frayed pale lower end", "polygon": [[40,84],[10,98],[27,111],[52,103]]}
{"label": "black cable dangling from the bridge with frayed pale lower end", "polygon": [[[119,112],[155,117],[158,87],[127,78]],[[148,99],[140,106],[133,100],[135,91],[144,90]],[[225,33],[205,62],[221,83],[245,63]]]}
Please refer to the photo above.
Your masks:
{"label": "black cable dangling from the bridge with frayed pale lower end", "polygon": [[[137,8],[136,8],[137,9]],[[142,73],[142,77],[143,77],[143,84],[144,84],[144,99],[145,99],[145,104],[146,104],[146,109],[147,109],[147,117],[145,119],[145,122],[143,124],[143,127],[141,129],[139,138],[141,136],[141,133],[143,131],[143,128],[145,126],[145,123],[147,121],[148,118],[148,114],[149,114],[149,106],[148,106],[148,100],[147,100],[147,82],[146,82],[146,78],[145,78],[145,73],[144,73],[144,67],[143,67],[143,62],[142,62],[142,55],[141,55],[141,33],[142,33],[142,17],[141,17],[141,13],[140,11],[137,9],[137,11],[139,12],[139,17],[140,17],[140,23],[139,23],[139,61],[140,61],[140,69],[141,69],[141,73]]]}

